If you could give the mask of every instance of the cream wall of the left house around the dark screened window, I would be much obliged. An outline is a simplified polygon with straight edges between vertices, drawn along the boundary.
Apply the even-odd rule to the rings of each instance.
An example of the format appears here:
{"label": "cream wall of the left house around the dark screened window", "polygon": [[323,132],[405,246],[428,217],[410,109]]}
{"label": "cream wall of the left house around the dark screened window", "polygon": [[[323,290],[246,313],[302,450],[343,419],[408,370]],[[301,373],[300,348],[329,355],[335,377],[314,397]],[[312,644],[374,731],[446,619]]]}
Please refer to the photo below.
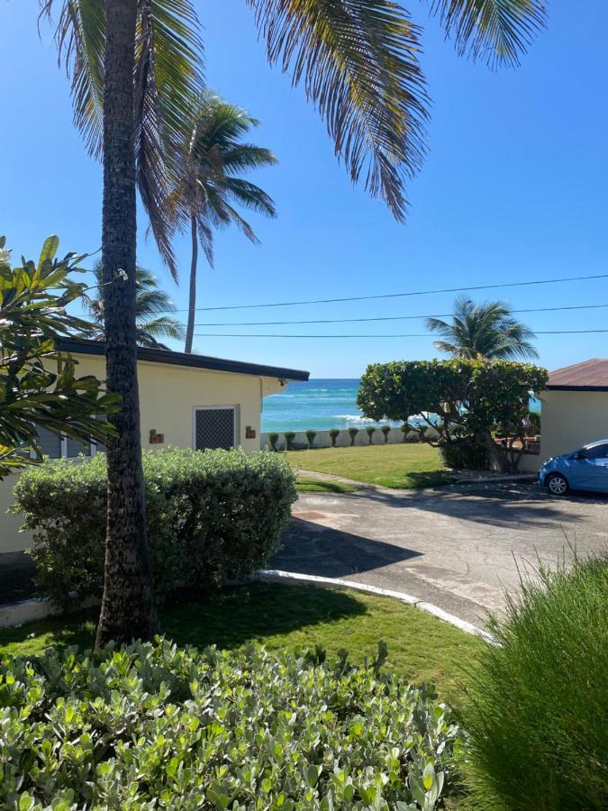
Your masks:
{"label": "cream wall of the left house around the dark screened window", "polygon": [[[103,356],[75,355],[77,375],[104,378]],[[232,372],[192,369],[165,363],[138,363],[141,403],[141,444],[144,450],[159,451],[174,445],[194,447],[194,413],[200,405],[236,405],[238,444],[245,451],[259,451],[261,398],[279,391],[276,378],[259,378]],[[245,436],[247,426],[255,439]],[[165,435],[162,445],[150,444],[150,430]],[[0,553],[27,549],[29,534],[18,533],[21,520],[5,515],[13,504],[15,476],[0,481]]]}

